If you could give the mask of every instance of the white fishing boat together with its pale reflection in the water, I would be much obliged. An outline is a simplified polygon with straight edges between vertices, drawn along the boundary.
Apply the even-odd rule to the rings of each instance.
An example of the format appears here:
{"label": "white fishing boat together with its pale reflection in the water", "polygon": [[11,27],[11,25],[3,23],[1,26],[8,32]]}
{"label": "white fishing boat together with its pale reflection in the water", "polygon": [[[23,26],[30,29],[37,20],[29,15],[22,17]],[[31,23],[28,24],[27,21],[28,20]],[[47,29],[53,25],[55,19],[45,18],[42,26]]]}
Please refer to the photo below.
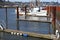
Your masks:
{"label": "white fishing boat together with its pale reflection in the water", "polygon": [[[17,14],[17,10],[15,10]],[[25,19],[25,16],[28,16],[27,19],[29,20],[47,20],[47,10],[43,10],[42,7],[35,7],[32,9],[29,9],[27,13],[25,11],[22,11],[21,8],[19,8],[19,16]]]}

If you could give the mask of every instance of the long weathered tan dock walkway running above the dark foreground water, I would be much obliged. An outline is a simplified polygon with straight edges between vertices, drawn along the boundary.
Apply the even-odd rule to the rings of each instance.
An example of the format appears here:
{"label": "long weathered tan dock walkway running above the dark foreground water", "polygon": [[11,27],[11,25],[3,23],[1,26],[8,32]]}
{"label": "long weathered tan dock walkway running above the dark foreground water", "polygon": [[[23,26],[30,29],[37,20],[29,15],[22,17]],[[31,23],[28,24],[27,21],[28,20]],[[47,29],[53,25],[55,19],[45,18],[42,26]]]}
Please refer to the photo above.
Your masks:
{"label": "long weathered tan dock walkway running above the dark foreground water", "polygon": [[[3,31],[3,30],[0,30]],[[10,30],[10,29],[5,29],[5,32],[15,32],[15,33],[22,33],[22,34],[28,34],[29,36],[32,37],[39,37],[39,38],[47,38],[47,39],[53,39],[54,37],[56,37],[53,34],[38,34],[38,33],[33,33],[33,32],[24,32],[24,31],[18,31],[18,30]]]}

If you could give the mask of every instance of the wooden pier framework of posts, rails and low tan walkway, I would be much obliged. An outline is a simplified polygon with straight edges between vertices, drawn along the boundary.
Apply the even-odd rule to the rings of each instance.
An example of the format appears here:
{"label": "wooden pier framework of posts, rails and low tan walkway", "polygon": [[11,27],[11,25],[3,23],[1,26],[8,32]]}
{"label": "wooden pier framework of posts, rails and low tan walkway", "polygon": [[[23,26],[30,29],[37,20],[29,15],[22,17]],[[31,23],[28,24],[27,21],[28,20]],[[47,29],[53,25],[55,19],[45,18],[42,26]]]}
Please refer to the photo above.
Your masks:
{"label": "wooden pier framework of posts, rails and low tan walkway", "polygon": [[[32,37],[41,37],[41,38],[47,38],[47,39],[55,39],[56,38],[56,35],[55,35],[55,32],[56,32],[56,24],[55,24],[55,22],[56,22],[56,8],[55,8],[55,6],[52,9],[52,13],[53,13],[52,22],[51,21],[41,21],[41,20],[28,20],[26,18],[25,19],[19,19],[19,11],[18,11],[19,7],[18,6],[16,6],[16,7],[2,7],[2,8],[6,8],[6,29],[0,30],[0,31],[5,31],[5,32],[9,32],[9,33],[16,32],[16,33],[28,34],[29,36],[32,36]],[[8,29],[7,8],[16,8],[17,9],[17,19],[16,19],[17,30]],[[48,18],[48,16],[46,16],[46,17]],[[38,33],[33,33],[33,32],[31,33],[31,32],[19,31],[19,21],[43,22],[43,23],[50,23],[50,24],[52,23],[52,25],[53,25],[52,28],[54,30],[54,34],[50,34],[50,32],[49,32],[49,34],[38,34]],[[50,30],[50,28],[49,28],[49,30]]]}

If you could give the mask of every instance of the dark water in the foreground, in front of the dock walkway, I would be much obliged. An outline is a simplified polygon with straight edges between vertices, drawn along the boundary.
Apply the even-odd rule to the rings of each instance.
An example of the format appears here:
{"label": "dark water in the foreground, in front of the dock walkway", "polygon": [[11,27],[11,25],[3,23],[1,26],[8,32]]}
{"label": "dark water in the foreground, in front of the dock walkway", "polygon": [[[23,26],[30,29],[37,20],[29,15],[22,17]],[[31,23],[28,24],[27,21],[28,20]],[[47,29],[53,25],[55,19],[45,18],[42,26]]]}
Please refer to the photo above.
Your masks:
{"label": "dark water in the foreground, in front of the dock walkway", "polygon": [[17,36],[17,35],[11,35],[10,33],[6,32],[0,32],[0,40],[48,40],[48,39]]}

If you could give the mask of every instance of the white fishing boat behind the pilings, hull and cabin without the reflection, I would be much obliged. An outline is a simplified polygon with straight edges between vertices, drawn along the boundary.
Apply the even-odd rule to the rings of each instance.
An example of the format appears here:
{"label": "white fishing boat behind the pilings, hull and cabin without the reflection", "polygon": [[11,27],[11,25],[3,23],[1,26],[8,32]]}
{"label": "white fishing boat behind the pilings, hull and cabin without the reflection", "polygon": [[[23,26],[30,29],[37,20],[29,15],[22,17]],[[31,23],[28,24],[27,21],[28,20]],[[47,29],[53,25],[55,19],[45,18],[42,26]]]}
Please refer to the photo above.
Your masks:
{"label": "white fishing boat behind the pilings, hull and cabin without the reflection", "polygon": [[[39,11],[40,10],[40,11]],[[15,10],[15,12],[17,12],[17,10]],[[35,16],[47,16],[47,10],[42,10],[41,8],[32,8],[31,10],[29,10],[28,13],[26,13],[27,15],[35,15]],[[21,10],[21,8],[19,8],[19,15],[25,15],[25,12]]]}

